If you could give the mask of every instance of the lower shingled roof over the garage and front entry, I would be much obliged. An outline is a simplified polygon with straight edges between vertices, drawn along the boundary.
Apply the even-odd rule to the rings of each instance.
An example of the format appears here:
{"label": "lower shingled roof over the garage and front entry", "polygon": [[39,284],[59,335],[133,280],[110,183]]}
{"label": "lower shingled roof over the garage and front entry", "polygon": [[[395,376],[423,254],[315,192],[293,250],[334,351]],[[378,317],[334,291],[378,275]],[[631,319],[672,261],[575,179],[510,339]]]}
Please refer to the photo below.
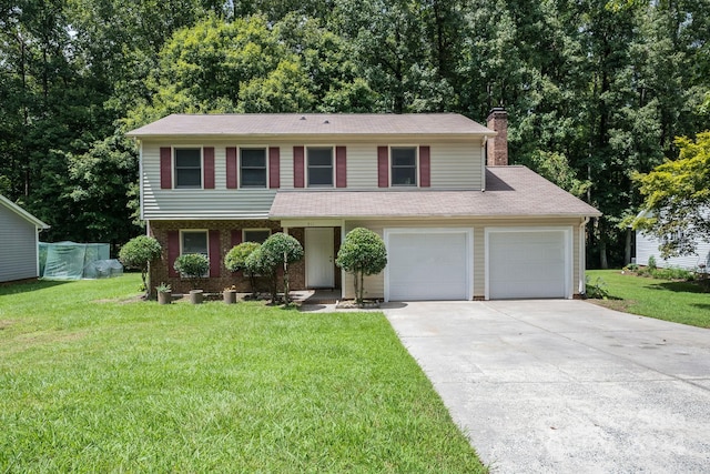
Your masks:
{"label": "lower shingled roof over the garage and front entry", "polygon": [[486,170],[486,191],[280,191],[271,219],[599,216],[526,167]]}

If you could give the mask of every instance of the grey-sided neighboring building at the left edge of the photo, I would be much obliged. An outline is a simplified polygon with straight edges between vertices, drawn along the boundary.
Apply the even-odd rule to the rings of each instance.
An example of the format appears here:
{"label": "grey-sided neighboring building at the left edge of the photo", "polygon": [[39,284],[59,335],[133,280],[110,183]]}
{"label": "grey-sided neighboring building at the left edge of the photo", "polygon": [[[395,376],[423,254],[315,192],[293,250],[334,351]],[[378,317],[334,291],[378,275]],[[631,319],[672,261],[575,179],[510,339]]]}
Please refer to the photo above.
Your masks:
{"label": "grey-sided neighboring building at the left edge of the photo", "polygon": [[39,275],[39,231],[44,222],[0,195],[0,282]]}

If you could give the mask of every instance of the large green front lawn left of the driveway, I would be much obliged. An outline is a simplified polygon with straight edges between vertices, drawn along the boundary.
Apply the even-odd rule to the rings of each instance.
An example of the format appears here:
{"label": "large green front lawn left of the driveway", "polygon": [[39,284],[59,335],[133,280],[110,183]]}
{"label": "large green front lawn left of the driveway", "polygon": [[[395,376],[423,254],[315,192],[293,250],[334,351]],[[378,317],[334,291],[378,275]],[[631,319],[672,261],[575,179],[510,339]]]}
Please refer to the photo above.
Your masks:
{"label": "large green front lawn left of the driveway", "polygon": [[0,288],[0,472],[485,472],[382,313]]}

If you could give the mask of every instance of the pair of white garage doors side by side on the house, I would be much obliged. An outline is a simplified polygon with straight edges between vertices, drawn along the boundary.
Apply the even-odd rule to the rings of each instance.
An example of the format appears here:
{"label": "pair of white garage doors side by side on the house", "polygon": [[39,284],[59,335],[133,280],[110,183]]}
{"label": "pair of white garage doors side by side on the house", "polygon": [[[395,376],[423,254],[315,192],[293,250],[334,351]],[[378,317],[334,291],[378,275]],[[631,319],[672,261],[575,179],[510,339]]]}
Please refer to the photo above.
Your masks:
{"label": "pair of white garage doors side by side on the house", "polygon": [[385,230],[388,301],[471,300],[474,266],[486,265],[486,297],[568,297],[566,230],[487,230],[486,262],[474,262],[471,229]]}

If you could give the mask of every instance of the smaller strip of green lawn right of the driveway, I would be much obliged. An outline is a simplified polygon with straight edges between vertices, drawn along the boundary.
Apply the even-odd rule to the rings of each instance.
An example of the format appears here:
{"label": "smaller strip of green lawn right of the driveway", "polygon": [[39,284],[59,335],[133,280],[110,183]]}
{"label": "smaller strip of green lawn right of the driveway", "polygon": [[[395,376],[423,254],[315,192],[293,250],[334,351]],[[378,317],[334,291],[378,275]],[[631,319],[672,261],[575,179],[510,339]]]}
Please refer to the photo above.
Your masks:
{"label": "smaller strip of green lawn right of the driveway", "polygon": [[[587,271],[590,283],[601,278],[610,299],[599,304],[627,313],[710,327],[710,293],[688,282],[621,274],[620,270]],[[591,300],[590,300],[591,301]]]}

